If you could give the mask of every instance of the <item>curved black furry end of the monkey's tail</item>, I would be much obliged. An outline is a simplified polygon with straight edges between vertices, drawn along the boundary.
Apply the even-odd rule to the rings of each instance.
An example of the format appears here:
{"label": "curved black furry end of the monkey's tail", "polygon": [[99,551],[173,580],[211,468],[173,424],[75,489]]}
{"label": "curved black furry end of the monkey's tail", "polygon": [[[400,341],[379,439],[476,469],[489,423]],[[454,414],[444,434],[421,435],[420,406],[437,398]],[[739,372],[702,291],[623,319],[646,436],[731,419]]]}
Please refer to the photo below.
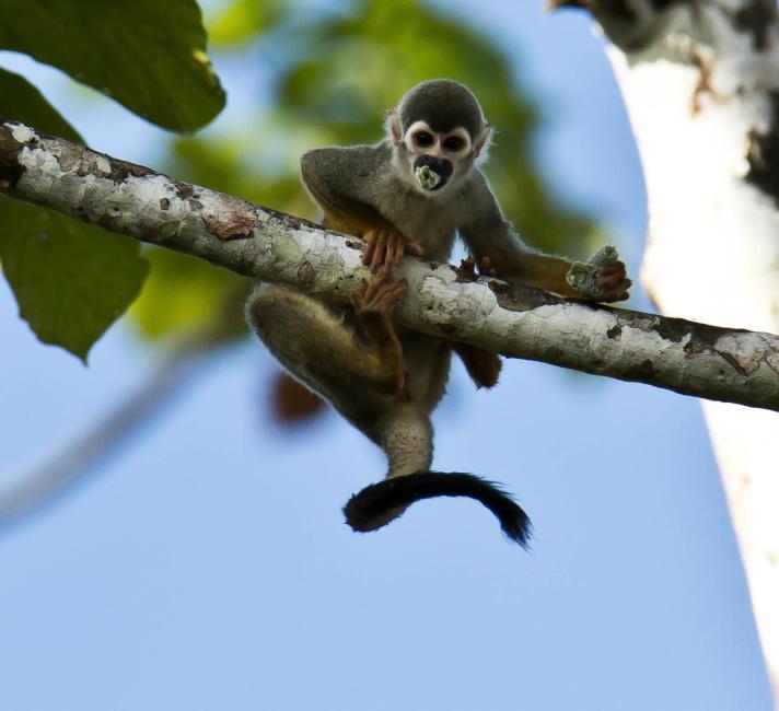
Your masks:
{"label": "curved black furry end of the monkey's tail", "polygon": [[503,533],[527,549],[531,520],[522,508],[493,481],[462,471],[417,471],[388,477],[353,494],[346,506],[352,531],[375,531],[397,518],[415,501],[433,497],[468,497],[489,509]]}

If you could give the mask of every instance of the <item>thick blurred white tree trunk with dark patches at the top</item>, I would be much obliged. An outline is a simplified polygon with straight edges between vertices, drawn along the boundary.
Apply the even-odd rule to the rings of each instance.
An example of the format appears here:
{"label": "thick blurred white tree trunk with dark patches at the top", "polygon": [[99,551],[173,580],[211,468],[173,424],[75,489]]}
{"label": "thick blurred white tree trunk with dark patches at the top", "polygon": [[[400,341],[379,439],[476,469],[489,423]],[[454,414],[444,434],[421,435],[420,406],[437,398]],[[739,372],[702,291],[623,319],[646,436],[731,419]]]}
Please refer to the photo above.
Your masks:
{"label": "thick blurred white tree trunk with dark patches at the top", "polygon": [[[661,311],[779,330],[775,0],[582,0],[632,121],[649,194],[642,280]],[[779,415],[705,401],[779,696]]]}

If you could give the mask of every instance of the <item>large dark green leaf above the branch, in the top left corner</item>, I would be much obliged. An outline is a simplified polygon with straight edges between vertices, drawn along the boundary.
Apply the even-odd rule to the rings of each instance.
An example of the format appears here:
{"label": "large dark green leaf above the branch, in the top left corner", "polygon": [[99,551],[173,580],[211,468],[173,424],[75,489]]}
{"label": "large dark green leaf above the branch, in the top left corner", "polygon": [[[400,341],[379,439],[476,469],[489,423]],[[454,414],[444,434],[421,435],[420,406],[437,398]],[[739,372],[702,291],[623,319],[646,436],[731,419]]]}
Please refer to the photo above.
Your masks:
{"label": "large dark green leaf above the branch, in the top left corner", "polygon": [[224,106],[195,0],[0,0],[0,48],[31,55],[173,131]]}

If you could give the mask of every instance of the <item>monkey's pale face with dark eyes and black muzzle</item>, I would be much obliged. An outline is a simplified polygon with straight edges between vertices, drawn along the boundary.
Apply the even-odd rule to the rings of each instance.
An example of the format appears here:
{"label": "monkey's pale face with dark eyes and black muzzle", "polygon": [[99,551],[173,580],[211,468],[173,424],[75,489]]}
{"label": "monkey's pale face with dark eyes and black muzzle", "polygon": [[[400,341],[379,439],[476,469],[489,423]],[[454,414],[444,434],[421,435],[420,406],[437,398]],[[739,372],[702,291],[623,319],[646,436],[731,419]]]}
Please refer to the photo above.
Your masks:
{"label": "monkey's pale face with dark eyes and black muzzle", "polygon": [[434,131],[426,121],[414,121],[395,144],[407,183],[426,195],[451,191],[474,164],[474,145],[463,127]]}

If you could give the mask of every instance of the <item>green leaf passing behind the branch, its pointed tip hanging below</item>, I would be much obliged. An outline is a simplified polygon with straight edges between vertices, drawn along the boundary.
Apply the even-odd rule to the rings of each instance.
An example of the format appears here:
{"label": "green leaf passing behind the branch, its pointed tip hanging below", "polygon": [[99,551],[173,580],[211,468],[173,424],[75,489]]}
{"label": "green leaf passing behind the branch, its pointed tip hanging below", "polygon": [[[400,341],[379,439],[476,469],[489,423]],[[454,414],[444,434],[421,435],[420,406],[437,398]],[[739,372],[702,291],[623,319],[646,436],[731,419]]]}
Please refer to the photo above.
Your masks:
{"label": "green leaf passing behind the branch, its pointed tip hanging below", "polygon": [[[0,116],[81,140],[37,89],[2,69]],[[148,271],[135,240],[8,198],[0,198],[0,261],[36,336],[82,360],[138,295]]]}

